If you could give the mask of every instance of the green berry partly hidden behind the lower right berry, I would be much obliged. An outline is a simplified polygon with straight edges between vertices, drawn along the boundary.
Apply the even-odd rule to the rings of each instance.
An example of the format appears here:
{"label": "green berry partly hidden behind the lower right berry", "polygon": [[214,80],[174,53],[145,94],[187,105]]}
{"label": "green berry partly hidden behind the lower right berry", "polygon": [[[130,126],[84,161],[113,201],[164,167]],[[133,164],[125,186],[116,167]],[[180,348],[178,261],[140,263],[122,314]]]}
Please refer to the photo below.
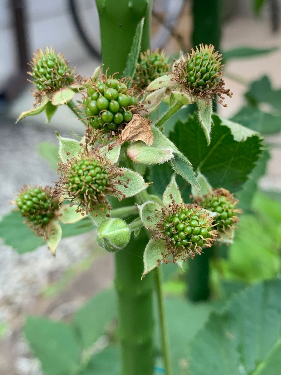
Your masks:
{"label": "green berry partly hidden behind the lower right berry", "polygon": [[238,200],[228,190],[222,188],[214,189],[203,197],[195,197],[194,202],[202,205],[206,210],[217,213],[214,225],[219,235],[235,228],[235,224],[239,221],[237,214],[242,212],[241,209],[235,208]]}

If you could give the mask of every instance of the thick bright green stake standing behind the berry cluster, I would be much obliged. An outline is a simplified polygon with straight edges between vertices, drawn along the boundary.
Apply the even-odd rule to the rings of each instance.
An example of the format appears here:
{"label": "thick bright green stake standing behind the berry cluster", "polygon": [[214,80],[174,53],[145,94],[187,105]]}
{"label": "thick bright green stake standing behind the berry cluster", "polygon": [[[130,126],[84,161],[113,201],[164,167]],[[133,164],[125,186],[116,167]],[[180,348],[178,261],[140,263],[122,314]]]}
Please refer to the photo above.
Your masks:
{"label": "thick bright green stake standing behind the berry cluster", "polygon": [[[100,17],[102,60],[109,74],[123,72],[136,27],[143,17],[142,51],[150,48],[152,0],[96,0]],[[122,204],[122,202],[121,202]],[[141,281],[144,231],[126,249],[115,254],[115,287],[118,296],[121,375],[152,375],[154,275]]]}

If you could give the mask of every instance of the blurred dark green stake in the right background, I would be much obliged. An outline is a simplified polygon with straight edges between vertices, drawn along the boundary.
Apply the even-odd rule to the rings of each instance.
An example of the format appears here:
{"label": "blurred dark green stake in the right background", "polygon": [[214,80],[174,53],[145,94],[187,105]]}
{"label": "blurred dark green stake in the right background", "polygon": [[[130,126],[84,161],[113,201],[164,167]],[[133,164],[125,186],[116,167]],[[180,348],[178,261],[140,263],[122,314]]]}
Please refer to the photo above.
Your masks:
{"label": "blurred dark green stake in the right background", "polygon": [[[213,44],[220,50],[222,0],[193,0],[193,34],[192,45]],[[216,108],[216,102],[213,109]],[[213,245],[214,246],[214,245]],[[207,300],[210,295],[209,269],[211,250],[203,249],[202,255],[188,262],[188,299],[191,301]]]}

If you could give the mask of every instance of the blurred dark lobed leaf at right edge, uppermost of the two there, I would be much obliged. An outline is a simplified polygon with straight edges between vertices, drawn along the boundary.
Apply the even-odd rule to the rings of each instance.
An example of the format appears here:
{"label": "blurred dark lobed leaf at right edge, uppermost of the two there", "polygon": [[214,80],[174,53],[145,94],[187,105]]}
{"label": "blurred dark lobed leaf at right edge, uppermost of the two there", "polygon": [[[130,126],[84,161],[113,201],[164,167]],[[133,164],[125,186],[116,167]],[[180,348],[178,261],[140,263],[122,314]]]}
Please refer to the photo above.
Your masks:
{"label": "blurred dark lobed leaf at right edge, uppermost of the two there", "polygon": [[281,110],[281,89],[272,89],[267,76],[254,81],[245,97],[251,105],[257,106],[259,103],[268,103],[273,108]]}

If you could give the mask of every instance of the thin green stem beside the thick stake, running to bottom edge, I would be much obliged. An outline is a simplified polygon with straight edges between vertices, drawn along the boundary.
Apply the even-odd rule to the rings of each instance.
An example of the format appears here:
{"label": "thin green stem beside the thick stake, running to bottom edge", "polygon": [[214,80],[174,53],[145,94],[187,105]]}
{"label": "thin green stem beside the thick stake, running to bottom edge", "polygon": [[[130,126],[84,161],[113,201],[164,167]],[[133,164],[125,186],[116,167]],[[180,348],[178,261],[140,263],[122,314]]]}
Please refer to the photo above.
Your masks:
{"label": "thin green stem beside the thick stake, running to bottom edge", "polygon": [[172,369],[171,369],[171,363],[170,363],[170,352],[169,352],[168,335],[167,335],[167,323],[166,323],[166,315],[165,315],[165,311],[164,311],[164,299],[163,299],[163,290],[162,290],[163,280],[162,280],[162,277],[161,277],[159,267],[157,267],[154,272],[155,272],[155,279],[156,279],[156,294],[157,294],[157,303],[158,303],[158,313],[159,313],[159,321],[160,321],[164,365],[165,365],[165,369],[166,369],[166,375],[171,375]]}

